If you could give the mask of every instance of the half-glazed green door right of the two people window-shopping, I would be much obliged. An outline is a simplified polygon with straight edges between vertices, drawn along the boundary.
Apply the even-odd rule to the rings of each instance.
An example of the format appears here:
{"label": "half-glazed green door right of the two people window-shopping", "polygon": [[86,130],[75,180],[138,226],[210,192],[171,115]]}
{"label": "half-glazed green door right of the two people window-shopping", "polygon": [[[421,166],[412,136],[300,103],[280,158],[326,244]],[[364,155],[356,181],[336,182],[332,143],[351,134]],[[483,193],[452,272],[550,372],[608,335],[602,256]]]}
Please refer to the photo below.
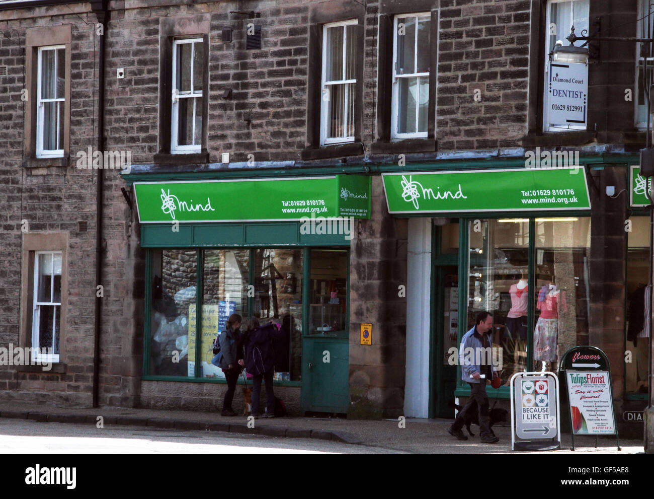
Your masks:
{"label": "half-glazed green door right of the two people window-shopping", "polygon": [[301,411],[345,414],[349,407],[348,251],[309,250],[309,265]]}

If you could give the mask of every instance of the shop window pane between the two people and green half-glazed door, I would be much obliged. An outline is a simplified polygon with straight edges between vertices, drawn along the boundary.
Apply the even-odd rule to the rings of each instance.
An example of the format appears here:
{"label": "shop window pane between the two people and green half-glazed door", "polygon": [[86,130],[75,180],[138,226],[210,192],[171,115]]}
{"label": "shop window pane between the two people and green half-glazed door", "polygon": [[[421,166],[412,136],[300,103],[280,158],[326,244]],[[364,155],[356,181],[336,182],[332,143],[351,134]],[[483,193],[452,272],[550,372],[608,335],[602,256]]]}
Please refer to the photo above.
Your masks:
{"label": "shop window pane between the two people and green half-glazed door", "polygon": [[254,316],[281,326],[273,343],[281,380],[301,380],[302,272],[302,250],[254,250]]}

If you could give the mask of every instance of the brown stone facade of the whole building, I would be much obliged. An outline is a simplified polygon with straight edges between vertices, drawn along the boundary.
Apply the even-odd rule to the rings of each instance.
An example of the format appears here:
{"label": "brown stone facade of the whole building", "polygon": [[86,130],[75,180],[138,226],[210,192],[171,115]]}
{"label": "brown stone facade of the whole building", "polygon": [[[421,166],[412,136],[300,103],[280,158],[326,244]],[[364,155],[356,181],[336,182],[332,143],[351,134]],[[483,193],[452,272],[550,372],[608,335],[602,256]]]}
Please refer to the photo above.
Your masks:
{"label": "brown stone facade of the whole building", "polygon": [[[614,98],[623,96],[625,88],[635,88],[636,58],[631,48],[600,44],[600,59],[589,69],[592,100],[587,130],[548,134],[542,125],[547,1],[29,4],[0,3],[0,30],[5,33],[0,37],[0,65],[7,66],[7,75],[0,76],[0,147],[6,151],[0,158],[0,203],[6,207],[0,219],[7,248],[0,257],[0,343],[29,344],[31,312],[24,289],[33,272],[30,258],[40,248],[64,251],[61,318],[65,322],[59,365],[49,373],[0,367],[0,397],[91,403],[94,303],[100,285],[98,403],[220,407],[224,384],[151,379],[143,372],[149,284],[131,181],[248,179],[272,176],[271,172],[275,177],[298,177],[311,171],[316,176],[371,177],[370,219],[356,222],[349,242],[347,413],[434,416],[426,402],[412,400],[427,397],[427,392],[432,398],[438,396],[427,381],[436,341],[430,340],[436,320],[430,316],[429,288],[436,284],[412,289],[415,279],[410,274],[415,259],[426,265],[421,267],[423,274],[431,272],[428,260],[436,232],[428,221],[419,235],[414,231],[411,236],[414,221],[389,214],[381,174],[428,171],[429,165],[434,170],[500,168],[503,161],[515,166],[523,162],[526,149],[542,147],[581,151],[587,159],[585,168],[593,183],[587,335],[589,344],[609,354],[614,396],[623,401],[627,298],[623,222],[630,207],[624,198],[608,198],[604,193],[609,185],[615,193],[629,189],[625,167],[645,142],[644,132],[634,124],[634,103]],[[602,16],[602,29],[613,29],[611,35],[635,35],[638,1],[593,2],[589,9],[589,19]],[[392,74],[397,62],[396,23],[404,14],[407,18],[421,14],[421,22],[428,23],[422,25],[428,26],[422,31],[425,37],[428,33],[427,71],[420,77],[428,85],[428,104],[422,116],[424,133],[398,140],[392,129],[396,113]],[[354,20],[348,31],[354,37],[353,140],[324,147],[320,128],[324,26],[348,20]],[[626,20],[634,22],[625,24]],[[103,35],[97,34],[98,26]],[[260,48],[251,48],[257,46],[256,33],[260,33]],[[105,43],[102,100],[97,79],[100,36]],[[64,157],[56,159],[35,157],[36,110],[32,100],[21,100],[22,90],[33,85],[27,81],[27,70],[35,64],[33,54],[38,46],[50,45],[49,37],[61,41],[69,62],[65,104],[69,118],[64,128],[69,138]],[[201,147],[190,154],[171,154],[171,54],[179,37],[197,38],[205,54],[198,104]],[[614,70],[615,65],[621,69]],[[103,106],[103,143],[96,135],[99,105]],[[77,168],[77,154],[88,147],[131,154],[131,179],[120,170],[103,172],[100,240],[95,238],[99,175],[93,168]],[[229,157],[223,162],[225,153]],[[593,170],[593,165],[603,168]],[[489,191],[492,196],[492,187]],[[247,204],[247,196],[236,202]],[[29,224],[27,231],[21,230],[24,221]],[[416,249],[418,238],[426,241],[422,250]],[[54,241],[54,246],[48,246],[48,241]],[[101,251],[99,283],[94,278],[96,247]],[[398,293],[402,286],[405,295]],[[417,307],[421,314],[415,314],[411,303],[421,304]],[[359,341],[362,323],[373,324],[371,345]],[[414,344],[417,337],[422,339]],[[414,358],[413,348],[426,357]],[[297,352],[296,356],[300,357]],[[301,390],[307,389],[279,386],[291,413],[306,409]]]}

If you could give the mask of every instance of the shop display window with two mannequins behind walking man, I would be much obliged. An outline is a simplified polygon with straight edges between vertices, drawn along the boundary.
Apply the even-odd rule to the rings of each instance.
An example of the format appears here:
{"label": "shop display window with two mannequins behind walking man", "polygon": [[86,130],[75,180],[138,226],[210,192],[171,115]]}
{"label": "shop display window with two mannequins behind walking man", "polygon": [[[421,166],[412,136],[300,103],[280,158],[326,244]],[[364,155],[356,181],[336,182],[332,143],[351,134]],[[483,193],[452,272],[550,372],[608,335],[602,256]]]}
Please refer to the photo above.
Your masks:
{"label": "shop display window with two mannequins behind walking man", "polygon": [[557,371],[568,348],[588,342],[591,219],[472,220],[469,242],[466,329],[481,310],[493,314],[502,384],[521,371]]}

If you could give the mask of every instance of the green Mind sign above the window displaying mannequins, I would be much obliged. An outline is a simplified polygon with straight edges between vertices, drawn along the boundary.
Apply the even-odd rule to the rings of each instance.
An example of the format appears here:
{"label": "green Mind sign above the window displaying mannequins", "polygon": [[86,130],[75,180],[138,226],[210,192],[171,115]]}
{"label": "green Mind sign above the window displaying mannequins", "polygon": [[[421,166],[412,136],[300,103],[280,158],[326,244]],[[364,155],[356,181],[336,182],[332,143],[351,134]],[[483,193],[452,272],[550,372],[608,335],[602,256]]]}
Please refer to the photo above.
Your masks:
{"label": "green Mind sign above the window displaying mannequins", "polygon": [[382,174],[388,212],[589,210],[583,167]]}

